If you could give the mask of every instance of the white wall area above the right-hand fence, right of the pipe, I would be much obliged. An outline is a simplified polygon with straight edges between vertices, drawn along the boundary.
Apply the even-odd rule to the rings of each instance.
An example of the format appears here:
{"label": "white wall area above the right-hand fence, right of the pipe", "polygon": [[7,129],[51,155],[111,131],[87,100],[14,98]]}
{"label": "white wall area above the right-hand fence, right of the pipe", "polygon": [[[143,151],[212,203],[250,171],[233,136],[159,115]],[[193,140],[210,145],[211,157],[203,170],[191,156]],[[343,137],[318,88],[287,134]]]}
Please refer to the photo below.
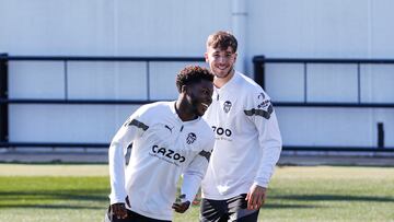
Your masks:
{"label": "white wall area above the right-hand fence, right of the pipe", "polygon": [[[253,3],[252,3],[253,2]],[[391,0],[254,0],[250,56],[392,58]]]}

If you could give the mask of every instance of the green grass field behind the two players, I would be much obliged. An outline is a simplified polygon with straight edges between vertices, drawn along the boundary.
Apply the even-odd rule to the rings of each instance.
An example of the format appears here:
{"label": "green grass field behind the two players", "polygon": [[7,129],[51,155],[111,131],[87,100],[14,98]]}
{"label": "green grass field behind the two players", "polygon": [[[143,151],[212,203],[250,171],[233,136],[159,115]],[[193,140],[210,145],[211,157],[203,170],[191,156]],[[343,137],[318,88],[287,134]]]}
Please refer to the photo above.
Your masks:
{"label": "green grass field behind the two players", "polygon": [[[106,165],[0,164],[1,222],[103,221],[108,192]],[[394,168],[278,167],[259,221],[394,221]]]}

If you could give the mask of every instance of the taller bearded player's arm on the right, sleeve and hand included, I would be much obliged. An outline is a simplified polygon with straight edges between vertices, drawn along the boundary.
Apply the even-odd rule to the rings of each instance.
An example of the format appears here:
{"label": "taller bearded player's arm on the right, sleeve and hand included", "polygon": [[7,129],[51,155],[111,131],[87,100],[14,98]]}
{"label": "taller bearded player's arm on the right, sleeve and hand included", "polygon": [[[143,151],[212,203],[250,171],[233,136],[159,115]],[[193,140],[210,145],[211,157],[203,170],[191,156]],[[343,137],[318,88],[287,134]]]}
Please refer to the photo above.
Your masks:
{"label": "taller bearded player's arm on the right, sleeve and hand included", "polygon": [[258,130],[262,159],[255,182],[246,196],[248,209],[258,209],[264,205],[267,187],[281,151],[281,137],[270,98],[262,92],[252,98],[253,112],[245,114]]}

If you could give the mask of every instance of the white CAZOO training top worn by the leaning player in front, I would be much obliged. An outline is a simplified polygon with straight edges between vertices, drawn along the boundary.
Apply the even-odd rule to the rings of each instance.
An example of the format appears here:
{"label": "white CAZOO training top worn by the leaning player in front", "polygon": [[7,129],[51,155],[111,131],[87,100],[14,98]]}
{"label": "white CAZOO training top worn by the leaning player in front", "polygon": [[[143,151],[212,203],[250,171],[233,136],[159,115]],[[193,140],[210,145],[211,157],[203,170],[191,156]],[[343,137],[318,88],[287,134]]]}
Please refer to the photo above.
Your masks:
{"label": "white CAZOO training top worn by the leaning player in front", "polygon": [[[129,164],[125,166],[131,142]],[[192,202],[213,142],[208,124],[200,117],[182,121],[174,102],[141,106],[121,126],[109,147],[111,205],[126,202],[128,209],[144,217],[172,220],[181,174],[182,194]]]}

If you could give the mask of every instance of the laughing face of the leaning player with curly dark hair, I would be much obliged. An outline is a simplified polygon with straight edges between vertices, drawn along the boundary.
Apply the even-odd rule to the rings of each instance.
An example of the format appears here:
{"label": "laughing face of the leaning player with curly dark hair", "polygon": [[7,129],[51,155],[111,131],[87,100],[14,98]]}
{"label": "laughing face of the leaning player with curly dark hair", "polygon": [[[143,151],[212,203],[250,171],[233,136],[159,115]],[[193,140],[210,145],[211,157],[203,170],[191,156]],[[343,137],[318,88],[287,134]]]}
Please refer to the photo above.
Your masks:
{"label": "laughing face of the leaning player with curly dark hair", "polygon": [[202,116],[212,103],[212,93],[213,84],[208,80],[188,85],[187,101],[190,110],[197,116]]}

